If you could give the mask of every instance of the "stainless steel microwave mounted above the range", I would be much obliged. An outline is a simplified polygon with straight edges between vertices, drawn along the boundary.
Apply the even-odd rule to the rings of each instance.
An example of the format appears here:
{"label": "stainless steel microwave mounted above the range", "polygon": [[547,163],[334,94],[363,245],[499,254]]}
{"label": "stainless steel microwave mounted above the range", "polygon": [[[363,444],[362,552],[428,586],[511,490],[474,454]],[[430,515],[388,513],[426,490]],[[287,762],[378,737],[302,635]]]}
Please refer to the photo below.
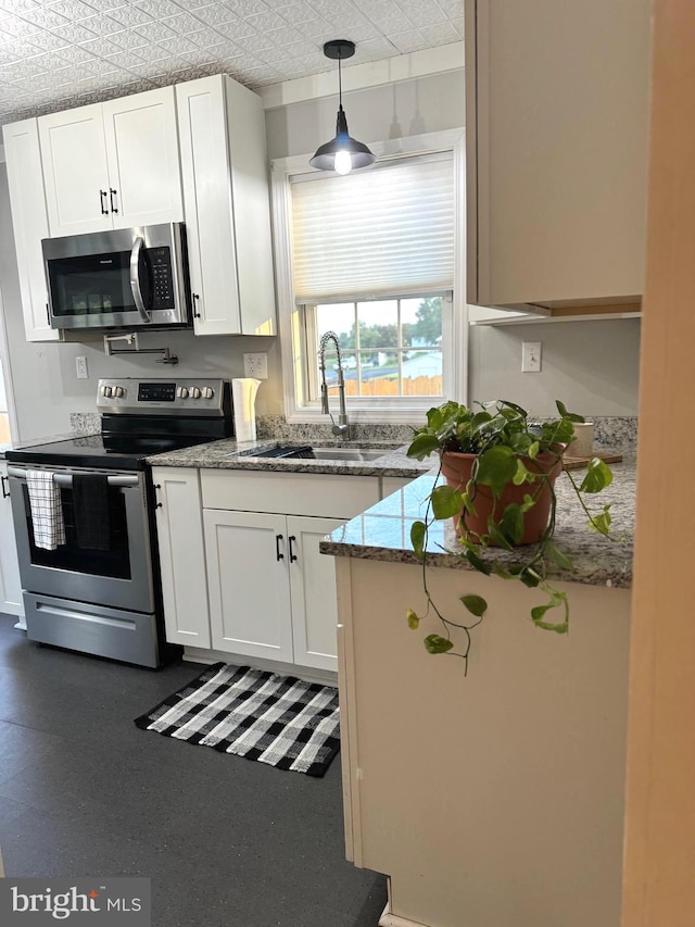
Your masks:
{"label": "stainless steel microwave mounted above the range", "polygon": [[191,325],[182,223],[45,238],[52,328]]}

